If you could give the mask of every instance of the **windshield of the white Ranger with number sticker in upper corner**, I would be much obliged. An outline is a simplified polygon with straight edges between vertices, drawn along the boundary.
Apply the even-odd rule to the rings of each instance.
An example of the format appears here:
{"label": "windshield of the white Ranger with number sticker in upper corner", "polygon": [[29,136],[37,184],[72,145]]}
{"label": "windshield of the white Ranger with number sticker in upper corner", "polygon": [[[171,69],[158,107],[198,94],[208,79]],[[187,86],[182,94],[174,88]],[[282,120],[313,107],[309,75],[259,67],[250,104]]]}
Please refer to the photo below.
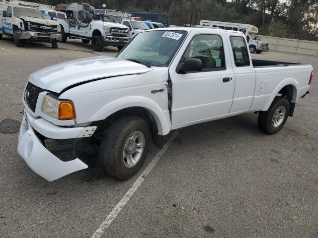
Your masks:
{"label": "windshield of the white Ranger with number sticker in upper corner", "polygon": [[147,66],[165,67],[171,62],[186,35],[186,31],[141,32],[116,57],[139,61]]}

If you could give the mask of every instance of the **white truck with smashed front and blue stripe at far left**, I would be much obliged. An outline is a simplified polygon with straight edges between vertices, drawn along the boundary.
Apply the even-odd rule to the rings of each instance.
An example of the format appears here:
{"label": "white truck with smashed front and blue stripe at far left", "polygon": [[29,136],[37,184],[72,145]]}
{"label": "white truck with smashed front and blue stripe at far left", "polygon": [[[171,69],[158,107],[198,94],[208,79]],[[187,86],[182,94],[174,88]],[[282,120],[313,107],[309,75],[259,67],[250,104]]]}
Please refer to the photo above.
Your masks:
{"label": "white truck with smashed front and blue stripe at far left", "polygon": [[0,9],[0,39],[2,35],[11,37],[17,47],[27,41],[36,41],[51,43],[52,48],[58,48],[58,42],[62,40],[61,28],[45,9],[39,5],[26,6],[3,0]]}

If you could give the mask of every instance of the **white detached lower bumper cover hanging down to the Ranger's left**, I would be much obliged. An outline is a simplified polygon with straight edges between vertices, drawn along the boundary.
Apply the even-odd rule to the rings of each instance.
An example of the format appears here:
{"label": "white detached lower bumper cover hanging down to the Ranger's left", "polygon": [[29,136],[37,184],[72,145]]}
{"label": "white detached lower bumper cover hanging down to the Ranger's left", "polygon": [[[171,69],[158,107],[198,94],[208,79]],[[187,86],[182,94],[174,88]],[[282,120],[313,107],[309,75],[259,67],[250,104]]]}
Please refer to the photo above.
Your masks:
{"label": "white detached lower bumper cover hanging down to the Ranger's left", "polygon": [[53,181],[88,168],[88,166],[78,158],[64,162],[48,151],[35,135],[25,115],[19,131],[17,149],[19,155],[24,159],[27,165],[36,174],[48,181]]}

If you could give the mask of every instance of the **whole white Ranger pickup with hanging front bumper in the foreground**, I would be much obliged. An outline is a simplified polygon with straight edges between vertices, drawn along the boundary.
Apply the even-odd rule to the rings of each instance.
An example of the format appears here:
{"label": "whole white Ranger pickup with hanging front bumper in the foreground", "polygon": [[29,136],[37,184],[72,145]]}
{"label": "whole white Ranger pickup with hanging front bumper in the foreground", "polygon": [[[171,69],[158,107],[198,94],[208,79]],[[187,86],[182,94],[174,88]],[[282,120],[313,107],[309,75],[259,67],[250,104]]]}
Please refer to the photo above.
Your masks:
{"label": "whole white Ranger pickup with hanging front bumper in the foreground", "polygon": [[[139,33],[115,58],[92,57],[43,68],[23,92],[18,153],[52,181],[86,169],[59,159],[47,139],[90,139],[101,168],[129,179],[142,167],[151,137],[196,123],[258,113],[274,134],[308,94],[313,67],[252,60],[243,33],[161,28]],[[75,145],[74,145],[75,146]]]}

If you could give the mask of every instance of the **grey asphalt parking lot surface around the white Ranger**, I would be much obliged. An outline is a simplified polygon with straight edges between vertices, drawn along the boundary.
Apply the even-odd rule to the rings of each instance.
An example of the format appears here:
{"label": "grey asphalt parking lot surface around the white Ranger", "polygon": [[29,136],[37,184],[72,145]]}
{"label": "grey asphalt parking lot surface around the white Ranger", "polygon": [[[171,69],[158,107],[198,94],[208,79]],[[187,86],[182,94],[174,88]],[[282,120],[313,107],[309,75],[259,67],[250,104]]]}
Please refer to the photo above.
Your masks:
{"label": "grey asphalt parking lot surface around the white Ranger", "polygon": [[[48,182],[17,154],[29,74],[62,61],[117,53],[112,47],[92,52],[78,40],[58,49],[0,41],[0,237],[90,238],[156,157],[159,148],[152,145],[142,171],[127,181],[92,166]],[[318,57],[281,52],[252,57],[318,69]],[[254,114],[179,130],[101,237],[317,238],[317,75],[278,134],[261,133]]]}

